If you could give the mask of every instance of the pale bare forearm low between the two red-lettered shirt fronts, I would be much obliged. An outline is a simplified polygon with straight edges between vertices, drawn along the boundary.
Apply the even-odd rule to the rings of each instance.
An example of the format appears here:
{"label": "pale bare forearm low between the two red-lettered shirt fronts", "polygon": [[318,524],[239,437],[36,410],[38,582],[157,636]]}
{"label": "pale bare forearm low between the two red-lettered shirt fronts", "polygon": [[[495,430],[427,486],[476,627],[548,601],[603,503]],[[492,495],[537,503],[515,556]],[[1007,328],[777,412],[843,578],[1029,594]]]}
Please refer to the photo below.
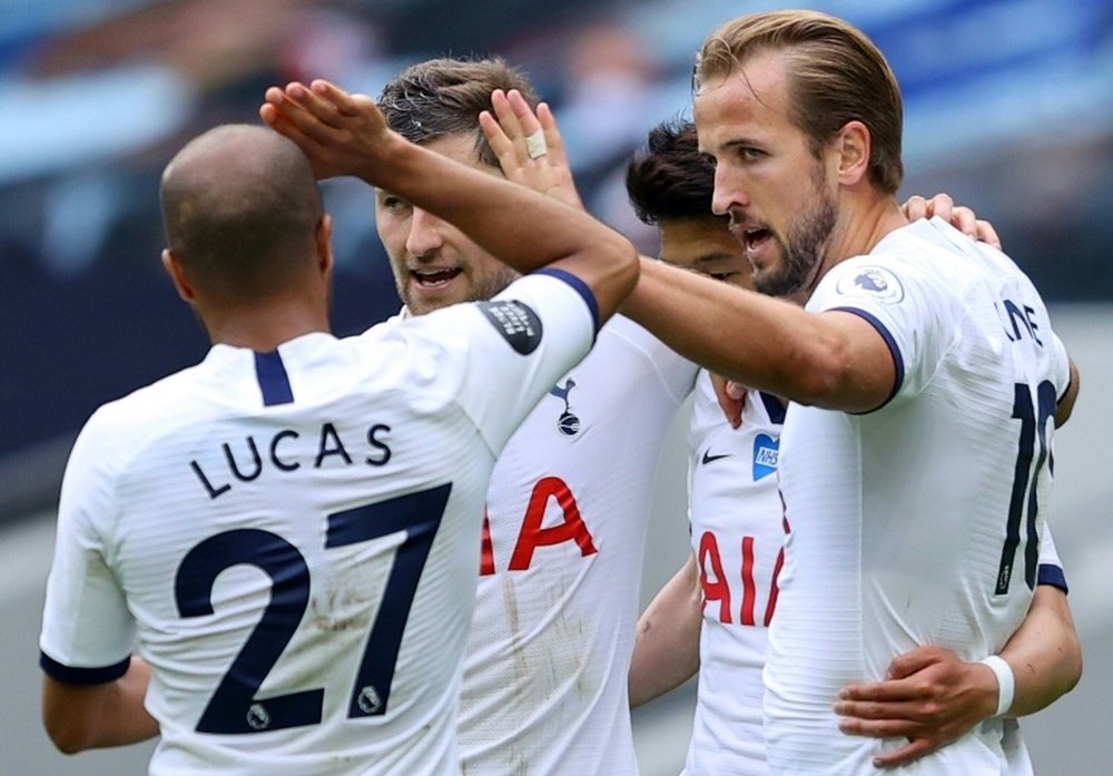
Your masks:
{"label": "pale bare forearm low between the two red-lettered shirt fronts", "polygon": [[696,556],[660,589],[638,619],[630,661],[630,706],[676,689],[699,670],[702,591]]}

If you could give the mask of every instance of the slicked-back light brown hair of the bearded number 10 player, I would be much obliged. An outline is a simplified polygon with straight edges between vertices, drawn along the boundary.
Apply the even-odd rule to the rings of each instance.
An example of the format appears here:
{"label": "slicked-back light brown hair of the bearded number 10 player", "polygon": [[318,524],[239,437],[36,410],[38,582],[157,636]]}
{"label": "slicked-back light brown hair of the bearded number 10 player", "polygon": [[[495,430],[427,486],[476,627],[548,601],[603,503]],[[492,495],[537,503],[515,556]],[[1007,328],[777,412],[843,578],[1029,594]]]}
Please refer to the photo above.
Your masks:
{"label": "slicked-back light brown hair of the bearded number 10 player", "polygon": [[818,156],[848,121],[869,129],[869,179],[896,194],[900,160],[900,87],[885,57],[860,30],[816,11],[771,11],[739,17],[713,30],[696,65],[696,85],[720,80],[761,51],[785,51],[790,116]]}

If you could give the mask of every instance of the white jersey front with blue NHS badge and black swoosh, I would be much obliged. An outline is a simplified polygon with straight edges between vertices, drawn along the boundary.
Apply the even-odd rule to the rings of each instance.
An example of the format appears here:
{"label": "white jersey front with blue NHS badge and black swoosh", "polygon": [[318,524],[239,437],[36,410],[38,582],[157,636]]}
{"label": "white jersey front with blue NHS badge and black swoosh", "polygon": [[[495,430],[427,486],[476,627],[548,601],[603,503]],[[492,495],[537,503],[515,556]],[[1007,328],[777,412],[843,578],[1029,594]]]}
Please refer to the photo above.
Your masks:
{"label": "white jersey front with blue NHS badge and black swoosh", "polygon": [[784,421],[780,400],[748,391],[742,424],[732,429],[708,373],[700,373],[689,433],[689,518],[703,622],[686,774],[767,773],[761,667],[785,543],[777,489]]}

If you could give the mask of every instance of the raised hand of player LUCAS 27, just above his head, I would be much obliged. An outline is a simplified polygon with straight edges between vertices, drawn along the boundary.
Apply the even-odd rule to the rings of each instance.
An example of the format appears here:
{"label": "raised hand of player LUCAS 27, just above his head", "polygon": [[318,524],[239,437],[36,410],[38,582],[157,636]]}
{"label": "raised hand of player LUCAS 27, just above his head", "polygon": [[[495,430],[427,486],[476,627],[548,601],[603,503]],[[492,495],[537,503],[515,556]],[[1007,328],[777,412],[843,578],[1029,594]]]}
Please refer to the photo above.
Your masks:
{"label": "raised hand of player LUCAS 27, just above his head", "polygon": [[270,87],[259,117],[309,157],[317,178],[361,175],[388,153],[392,135],[366,95],[349,95],[326,81]]}

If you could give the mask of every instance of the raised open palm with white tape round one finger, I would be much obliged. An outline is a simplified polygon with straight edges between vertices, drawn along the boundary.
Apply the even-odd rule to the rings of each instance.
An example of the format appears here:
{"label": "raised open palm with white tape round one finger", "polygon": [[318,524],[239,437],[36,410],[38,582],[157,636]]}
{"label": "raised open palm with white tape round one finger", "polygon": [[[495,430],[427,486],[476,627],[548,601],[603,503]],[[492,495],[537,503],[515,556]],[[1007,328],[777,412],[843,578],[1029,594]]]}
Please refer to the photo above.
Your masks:
{"label": "raised open palm with white tape round one finger", "polygon": [[534,114],[516,89],[495,89],[491,107],[494,114],[480,114],[480,127],[506,179],[584,209],[549,106],[541,102]]}

